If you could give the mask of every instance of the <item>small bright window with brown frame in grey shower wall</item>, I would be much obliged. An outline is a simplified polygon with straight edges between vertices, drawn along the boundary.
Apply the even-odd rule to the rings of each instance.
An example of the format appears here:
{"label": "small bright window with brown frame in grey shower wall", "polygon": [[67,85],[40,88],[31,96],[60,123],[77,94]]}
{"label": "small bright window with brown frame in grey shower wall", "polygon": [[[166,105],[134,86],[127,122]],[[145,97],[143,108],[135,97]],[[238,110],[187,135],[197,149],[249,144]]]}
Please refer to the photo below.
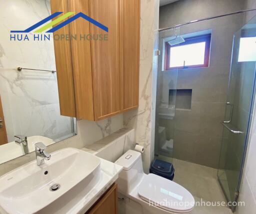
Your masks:
{"label": "small bright window with brown frame in grey shower wall", "polygon": [[165,70],[208,67],[211,34],[184,38],[184,42],[170,45],[165,42]]}

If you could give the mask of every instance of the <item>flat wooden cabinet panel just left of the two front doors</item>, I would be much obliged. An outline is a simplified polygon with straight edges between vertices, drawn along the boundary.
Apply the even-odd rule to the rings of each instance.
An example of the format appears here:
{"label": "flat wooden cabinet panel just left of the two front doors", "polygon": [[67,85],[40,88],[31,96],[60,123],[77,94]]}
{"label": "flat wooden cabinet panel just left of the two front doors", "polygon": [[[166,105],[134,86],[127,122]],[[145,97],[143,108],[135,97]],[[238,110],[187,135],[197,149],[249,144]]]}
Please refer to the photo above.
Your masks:
{"label": "flat wooden cabinet panel just left of the two front doors", "polygon": [[[68,9],[88,14],[88,0],[68,0]],[[70,41],[76,118],[94,120],[90,41],[85,39],[85,35],[90,33],[89,22],[78,18],[69,25],[70,35],[77,36],[76,40]]]}

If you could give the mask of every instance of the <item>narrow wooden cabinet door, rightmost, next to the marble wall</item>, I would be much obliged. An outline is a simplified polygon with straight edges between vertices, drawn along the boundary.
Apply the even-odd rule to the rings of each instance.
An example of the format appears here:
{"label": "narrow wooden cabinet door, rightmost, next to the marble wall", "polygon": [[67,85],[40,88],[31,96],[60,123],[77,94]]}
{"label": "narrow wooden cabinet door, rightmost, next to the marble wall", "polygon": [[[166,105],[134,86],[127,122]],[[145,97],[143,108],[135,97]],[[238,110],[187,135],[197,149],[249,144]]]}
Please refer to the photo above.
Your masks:
{"label": "narrow wooden cabinet door, rightmost, next to the marble wall", "polygon": [[123,110],[138,107],[140,0],[120,0]]}

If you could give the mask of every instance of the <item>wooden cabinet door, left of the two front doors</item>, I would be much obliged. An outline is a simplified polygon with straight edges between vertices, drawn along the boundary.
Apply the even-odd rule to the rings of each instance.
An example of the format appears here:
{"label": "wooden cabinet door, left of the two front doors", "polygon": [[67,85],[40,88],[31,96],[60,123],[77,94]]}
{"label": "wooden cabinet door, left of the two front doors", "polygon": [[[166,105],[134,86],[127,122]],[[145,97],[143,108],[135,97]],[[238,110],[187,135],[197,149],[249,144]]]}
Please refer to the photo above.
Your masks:
{"label": "wooden cabinet door, left of the two front doors", "polygon": [[108,27],[107,33],[90,23],[92,35],[108,38],[90,41],[94,119],[100,120],[121,111],[119,0],[89,0],[89,15]]}

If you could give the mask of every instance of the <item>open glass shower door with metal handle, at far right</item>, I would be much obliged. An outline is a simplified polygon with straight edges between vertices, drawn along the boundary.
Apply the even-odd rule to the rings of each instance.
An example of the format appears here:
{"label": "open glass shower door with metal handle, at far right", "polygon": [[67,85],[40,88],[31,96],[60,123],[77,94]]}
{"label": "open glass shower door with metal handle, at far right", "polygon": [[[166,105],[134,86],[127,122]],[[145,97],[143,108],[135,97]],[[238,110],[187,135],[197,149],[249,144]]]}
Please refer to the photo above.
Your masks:
{"label": "open glass shower door with metal handle, at far right", "polygon": [[[233,38],[233,52],[218,180],[228,202],[237,201],[247,148],[252,111],[255,61],[256,17],[239,29]],[[232,211],[235,207],[231,207]]]}

